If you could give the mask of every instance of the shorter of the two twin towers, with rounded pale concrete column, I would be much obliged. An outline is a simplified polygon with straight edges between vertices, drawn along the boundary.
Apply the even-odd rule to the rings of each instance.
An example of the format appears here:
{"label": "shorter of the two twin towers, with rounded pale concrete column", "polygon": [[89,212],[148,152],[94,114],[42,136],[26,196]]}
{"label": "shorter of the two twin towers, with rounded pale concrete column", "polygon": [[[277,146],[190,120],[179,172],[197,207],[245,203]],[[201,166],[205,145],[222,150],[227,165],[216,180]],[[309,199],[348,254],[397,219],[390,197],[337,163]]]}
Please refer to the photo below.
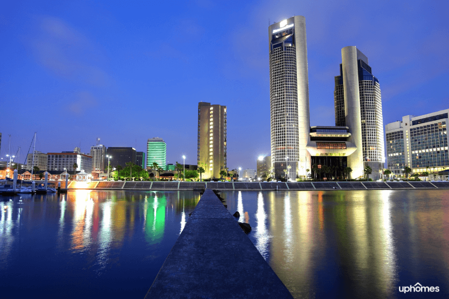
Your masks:
{"label": "shorter of the two twin towers, with rounded pale concrete column", "polygon": [[340,75],[335,77],[335,125],[349,128],[348,141],[356,147],[348,156],[351,177],[363,176],[364,167],[370,166],[369,177],[378,179],[385,162],[379,80],[355,46],[344,47],[341,54]]}

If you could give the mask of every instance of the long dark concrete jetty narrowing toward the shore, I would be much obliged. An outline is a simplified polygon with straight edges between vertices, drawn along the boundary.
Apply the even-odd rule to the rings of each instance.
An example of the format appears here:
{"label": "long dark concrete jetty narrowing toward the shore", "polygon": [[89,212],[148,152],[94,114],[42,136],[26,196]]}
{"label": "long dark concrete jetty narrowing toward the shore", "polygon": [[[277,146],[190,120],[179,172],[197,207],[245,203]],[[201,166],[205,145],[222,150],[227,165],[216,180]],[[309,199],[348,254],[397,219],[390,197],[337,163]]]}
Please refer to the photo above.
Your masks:
{"label": "long dark concrete jetty narrowing toward the shore", "polygon": [[208,188],[145,298],[293,297]]}

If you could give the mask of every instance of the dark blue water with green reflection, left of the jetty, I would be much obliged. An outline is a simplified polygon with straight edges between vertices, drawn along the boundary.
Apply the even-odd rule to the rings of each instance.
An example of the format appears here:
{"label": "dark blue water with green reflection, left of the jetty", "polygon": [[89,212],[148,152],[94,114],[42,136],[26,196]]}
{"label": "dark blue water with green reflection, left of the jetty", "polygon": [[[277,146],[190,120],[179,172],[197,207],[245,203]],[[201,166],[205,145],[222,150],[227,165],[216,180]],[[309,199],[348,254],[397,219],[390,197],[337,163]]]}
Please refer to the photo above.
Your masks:
{"label": "dark blue water with green reflection, left of the jetty", "polygon": [[193,191],[0,197],[0,298],[144,298],[199,199]]}

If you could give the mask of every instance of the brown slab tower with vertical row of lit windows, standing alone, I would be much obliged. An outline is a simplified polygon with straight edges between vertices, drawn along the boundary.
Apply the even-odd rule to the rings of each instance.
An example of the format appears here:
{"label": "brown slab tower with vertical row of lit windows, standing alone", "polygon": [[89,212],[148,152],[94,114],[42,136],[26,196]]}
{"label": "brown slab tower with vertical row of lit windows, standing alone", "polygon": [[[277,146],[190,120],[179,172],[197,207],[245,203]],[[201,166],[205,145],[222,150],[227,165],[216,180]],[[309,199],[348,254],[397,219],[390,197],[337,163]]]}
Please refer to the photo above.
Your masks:
{"label": "brown slab tower with vertical row of lit windows, standing alone", "polygon": [[203,178],[220,178],[226,170],[226,106],[198,103],[198,167]]}

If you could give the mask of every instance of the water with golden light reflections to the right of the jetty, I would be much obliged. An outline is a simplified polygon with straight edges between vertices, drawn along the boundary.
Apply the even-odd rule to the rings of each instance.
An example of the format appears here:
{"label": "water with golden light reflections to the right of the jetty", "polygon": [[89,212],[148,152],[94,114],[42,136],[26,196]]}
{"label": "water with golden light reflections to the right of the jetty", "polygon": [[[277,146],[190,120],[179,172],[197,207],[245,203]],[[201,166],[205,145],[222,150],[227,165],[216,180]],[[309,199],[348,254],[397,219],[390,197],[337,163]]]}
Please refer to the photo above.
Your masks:
{"label": "water with golden light reflections to the right of the jetty", "polygon": [[449,190],[221,194],[295,298],[449,298]]}

